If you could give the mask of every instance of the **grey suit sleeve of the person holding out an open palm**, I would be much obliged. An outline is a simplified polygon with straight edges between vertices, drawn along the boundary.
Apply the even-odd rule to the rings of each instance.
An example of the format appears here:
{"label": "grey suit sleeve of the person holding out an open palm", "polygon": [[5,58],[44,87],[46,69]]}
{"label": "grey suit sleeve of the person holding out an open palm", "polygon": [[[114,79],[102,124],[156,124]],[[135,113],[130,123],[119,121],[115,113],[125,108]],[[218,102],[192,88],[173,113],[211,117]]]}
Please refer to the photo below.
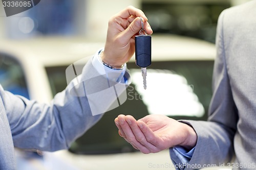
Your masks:
{"label": "grey suit sleeve of the person holding out an open palm", "polygon": [[[193,157],[180,169],[200,169],[205,165],[221,165],[230,161],[233,155],[233,137],[236,132],[238,112],[234,104],[229,77],[223,37],[223,18],[225,11],[219,17],[217,28],[217,58],[213,75],[213,96],[209,108],[207,122],[190,121],[190,124],[198,135],[198,140]],[[170,150],[170,156],[174,163],[182,164],[177,155]]]}

